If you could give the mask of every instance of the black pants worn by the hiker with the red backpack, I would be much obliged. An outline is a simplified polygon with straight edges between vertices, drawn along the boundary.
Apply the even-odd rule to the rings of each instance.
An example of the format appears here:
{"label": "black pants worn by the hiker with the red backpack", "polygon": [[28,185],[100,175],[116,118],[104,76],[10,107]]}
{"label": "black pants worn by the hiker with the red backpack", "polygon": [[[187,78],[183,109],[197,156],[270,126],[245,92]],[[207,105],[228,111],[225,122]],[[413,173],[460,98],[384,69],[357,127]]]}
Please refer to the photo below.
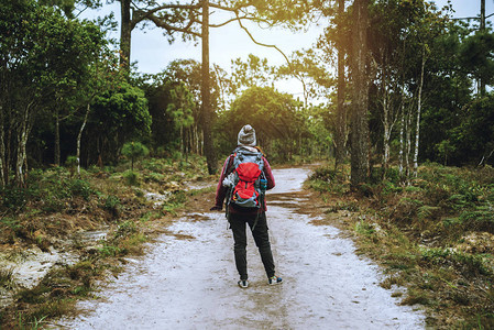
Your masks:
{"label": "black pants worn by the hiker with the red backpack", "polygon": [[264,264],[267,277],[274,276],[274,261],[271,252],[270,235],[267,233],[266,215],[263,212],[259,215],[257,222],[254,226],[256,216],[230,213],[230,228],[233,232],[233,252],[235,255],[235,265],[239,271],[240,279],[248,279],[246,270],[246,234],[245,223],[249,224],[252,235],[254,237],[255,245],[261,254],[261,260]]}

